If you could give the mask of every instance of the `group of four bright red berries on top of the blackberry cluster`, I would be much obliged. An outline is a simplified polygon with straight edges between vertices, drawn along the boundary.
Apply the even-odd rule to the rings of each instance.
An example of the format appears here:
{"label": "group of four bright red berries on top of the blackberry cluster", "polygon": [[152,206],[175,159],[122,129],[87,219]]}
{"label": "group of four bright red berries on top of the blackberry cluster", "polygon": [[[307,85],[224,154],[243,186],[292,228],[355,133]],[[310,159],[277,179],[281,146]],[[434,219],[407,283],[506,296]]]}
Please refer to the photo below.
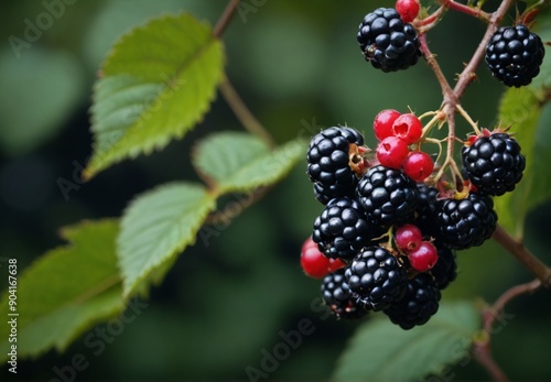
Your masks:
{"label": "group of four bright red berries on top of the blackberry cluster", "polygon": [[415,114],[382,110],[375,117],[374,130],[379,141],[376,151],[380,164],[402,170],[415,182],[423,182],[432,174],[432,157],[419,149],[410,150],[423,134],[423,125]]}

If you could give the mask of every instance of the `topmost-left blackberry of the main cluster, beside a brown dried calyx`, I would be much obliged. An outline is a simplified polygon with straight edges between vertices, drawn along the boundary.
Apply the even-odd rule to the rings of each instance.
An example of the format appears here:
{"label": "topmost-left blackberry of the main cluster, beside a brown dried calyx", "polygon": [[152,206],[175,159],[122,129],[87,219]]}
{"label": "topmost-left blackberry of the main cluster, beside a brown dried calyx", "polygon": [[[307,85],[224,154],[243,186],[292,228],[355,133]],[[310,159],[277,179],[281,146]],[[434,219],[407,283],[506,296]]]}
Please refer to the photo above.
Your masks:
{"label": "topmost-left blackberry of the main cluster, beside a brown dried calyx", "polygon": [[363,145],[364,138],[345,127],[325,129],[310,142],[306,172],[314,196],[324,205],[335,197],[354,196],[358,178],[348,164],[352,143]]}

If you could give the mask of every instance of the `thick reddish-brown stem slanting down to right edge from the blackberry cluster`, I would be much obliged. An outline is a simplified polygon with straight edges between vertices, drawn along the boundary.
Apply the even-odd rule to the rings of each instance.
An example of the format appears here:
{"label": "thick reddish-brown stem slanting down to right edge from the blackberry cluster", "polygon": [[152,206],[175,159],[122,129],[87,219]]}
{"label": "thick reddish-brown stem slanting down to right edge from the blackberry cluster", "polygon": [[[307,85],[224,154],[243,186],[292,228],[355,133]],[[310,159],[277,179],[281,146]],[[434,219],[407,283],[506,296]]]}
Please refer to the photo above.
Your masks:
{"label": "thick reddish-brown stem slanting down to right edge from the blackberry cluster", "polygon": [[538,277],[543,286],[551,288],[551,269],[536,258],[521,242],[515,240],[499,225],[497,225],[493,238]]}

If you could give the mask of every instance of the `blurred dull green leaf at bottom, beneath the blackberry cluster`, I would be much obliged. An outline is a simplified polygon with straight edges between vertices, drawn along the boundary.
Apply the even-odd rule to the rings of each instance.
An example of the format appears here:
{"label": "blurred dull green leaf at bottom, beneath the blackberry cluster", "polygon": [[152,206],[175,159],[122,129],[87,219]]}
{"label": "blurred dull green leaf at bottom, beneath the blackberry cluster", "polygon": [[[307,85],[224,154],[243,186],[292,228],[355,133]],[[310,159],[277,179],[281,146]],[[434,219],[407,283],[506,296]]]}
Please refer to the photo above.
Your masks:
{"label": "blurred dull green leaf at bottom, beneath the blackberry cluster", "polygon": [[467,357],[480,317],[472,303],[441,304],[431,320],[402,330],[388,317],[363,325],[338,360],[337,381],[417,381]]}

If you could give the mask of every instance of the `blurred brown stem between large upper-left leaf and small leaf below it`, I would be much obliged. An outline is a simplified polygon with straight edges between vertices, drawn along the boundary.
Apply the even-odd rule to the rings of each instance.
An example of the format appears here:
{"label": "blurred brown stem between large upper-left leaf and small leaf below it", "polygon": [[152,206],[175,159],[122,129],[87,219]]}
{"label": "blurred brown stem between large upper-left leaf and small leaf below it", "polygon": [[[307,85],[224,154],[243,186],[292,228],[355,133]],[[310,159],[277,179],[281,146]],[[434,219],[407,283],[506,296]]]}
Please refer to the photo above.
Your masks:
{"label": "blurred brown stem between large upper-left leaf and small leaf below it", "polygon": [[246,130],[250,133],[257,135],[263,140],[270,148],[274,148],[273,139],[268,130],[258,121],[258,119],[252,114],[247,105],[242,101],[241,97],[237,94],[236,89],[229,81],[227,76],[224,76],[219,89],[222,96],[226,102],[234,111],[239,122],[244,125]]}

